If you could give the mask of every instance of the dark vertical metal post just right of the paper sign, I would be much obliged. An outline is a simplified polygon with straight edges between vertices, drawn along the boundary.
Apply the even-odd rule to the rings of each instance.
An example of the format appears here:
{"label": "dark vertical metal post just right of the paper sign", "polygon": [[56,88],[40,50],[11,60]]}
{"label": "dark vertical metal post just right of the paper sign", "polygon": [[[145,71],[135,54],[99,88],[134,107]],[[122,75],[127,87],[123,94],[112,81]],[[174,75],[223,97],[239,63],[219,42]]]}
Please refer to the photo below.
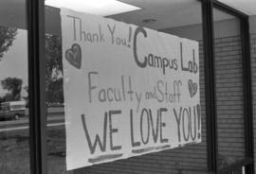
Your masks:
{"label": "dark vertical metal post just right of the paper sign", "polygon": [[211,0],[202,1],[205,55],[208,169],[217,172],[217,125],[215,110],[214,36]]}

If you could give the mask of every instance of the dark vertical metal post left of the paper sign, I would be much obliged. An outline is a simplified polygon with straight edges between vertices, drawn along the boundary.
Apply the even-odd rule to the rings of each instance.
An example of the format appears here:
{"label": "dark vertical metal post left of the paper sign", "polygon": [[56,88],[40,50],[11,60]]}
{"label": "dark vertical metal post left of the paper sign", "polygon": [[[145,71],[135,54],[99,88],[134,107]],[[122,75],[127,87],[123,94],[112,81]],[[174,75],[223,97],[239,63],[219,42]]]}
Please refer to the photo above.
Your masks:
{"label": "dark vertical metal post left of the paper sign", "polygon": [[27,0],[30,173],[46,174],[45,1]]}

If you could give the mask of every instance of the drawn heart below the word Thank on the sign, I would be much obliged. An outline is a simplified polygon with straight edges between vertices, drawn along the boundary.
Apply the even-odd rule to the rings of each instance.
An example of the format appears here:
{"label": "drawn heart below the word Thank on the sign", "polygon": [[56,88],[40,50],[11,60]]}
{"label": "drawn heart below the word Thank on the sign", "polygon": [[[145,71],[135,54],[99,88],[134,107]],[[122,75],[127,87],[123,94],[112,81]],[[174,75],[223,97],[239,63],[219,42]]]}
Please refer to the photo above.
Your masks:
{"label": "drawn heart below the word Thank on the sign", "polygon": [[82,51],[78,43],[74,43],[70,49],[65,51],[65,59],[74,67],[81,69]]}

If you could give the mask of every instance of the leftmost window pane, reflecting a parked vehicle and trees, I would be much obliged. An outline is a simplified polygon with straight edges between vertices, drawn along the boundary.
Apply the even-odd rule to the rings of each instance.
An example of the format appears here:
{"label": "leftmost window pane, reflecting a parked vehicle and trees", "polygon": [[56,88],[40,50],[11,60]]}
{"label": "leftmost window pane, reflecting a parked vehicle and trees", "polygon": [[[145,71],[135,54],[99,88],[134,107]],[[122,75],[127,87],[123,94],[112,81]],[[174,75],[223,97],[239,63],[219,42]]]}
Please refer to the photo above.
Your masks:
{"label": "leftmost window pane, reflecting a parked vehicle and trees", "polygon": [[0,173],[30,173],[25,0],[0,1]]}

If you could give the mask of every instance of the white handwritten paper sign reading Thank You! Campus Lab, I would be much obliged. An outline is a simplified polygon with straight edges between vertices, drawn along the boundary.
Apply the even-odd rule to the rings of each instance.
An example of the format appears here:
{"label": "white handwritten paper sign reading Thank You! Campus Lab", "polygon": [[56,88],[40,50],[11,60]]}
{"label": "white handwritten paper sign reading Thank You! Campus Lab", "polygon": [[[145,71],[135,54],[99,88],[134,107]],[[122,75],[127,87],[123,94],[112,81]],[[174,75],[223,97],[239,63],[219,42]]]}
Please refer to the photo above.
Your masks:
{"label": "white handwritten paper sign reading Thank You! Campus Lab", "polygon": [[201,142],[197,42],[61,16],[68,170]]}

